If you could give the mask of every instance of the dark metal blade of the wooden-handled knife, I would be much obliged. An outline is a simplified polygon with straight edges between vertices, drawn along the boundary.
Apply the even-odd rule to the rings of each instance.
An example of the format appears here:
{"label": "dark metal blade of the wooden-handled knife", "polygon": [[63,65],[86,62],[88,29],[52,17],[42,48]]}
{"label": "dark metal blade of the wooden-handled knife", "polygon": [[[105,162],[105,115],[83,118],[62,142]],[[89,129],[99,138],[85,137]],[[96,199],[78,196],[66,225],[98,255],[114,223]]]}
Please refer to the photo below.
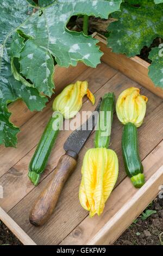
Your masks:
{"label": "dark metal blade of the wooden-handled knife", "polygon": [[92,130],[96,125],[101,101],[102,99],[98,101],[97,107],[90,116],[90,118],[88,118],[86,122],[81,125],[77,130],[73,131],[71,135],[67,138],[67,141],[64,144],[65,151],[72,150],[78,154],[80,149],[82,149],[87,138],[90,136]]}

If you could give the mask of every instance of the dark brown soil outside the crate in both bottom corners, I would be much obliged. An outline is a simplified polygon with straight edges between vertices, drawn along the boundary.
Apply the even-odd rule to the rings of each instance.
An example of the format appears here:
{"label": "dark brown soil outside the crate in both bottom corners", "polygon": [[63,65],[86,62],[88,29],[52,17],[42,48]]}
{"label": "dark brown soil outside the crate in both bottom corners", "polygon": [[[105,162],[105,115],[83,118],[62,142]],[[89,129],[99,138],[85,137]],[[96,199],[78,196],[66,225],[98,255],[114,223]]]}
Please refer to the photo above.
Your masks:
{"label": "dark brown soil outside the crate in both bottom corners", "polygon": [[[146,220],[142,220],[140,215],[114,245],[163,245],[163,199],[155,198],[147,209],[155,210],[156,213]],[[22,245],[2,222],[0,223],[0,245]]]}

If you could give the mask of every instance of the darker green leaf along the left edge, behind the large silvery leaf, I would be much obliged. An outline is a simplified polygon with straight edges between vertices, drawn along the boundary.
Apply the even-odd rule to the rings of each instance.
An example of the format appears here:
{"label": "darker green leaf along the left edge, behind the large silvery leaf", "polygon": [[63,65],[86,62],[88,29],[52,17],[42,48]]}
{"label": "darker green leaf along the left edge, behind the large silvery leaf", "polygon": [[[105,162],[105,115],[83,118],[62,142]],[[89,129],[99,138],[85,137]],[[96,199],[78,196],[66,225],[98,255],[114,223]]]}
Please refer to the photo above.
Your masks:
{"label": "darker green leaf along the left edge, behind the large silvery leaf", "polygon": [[[29,8],[27,1],[1,0],[0,13],[0,144],[4,144],[5,147],[16,147],[19,129],[9,121],[11,113],[8,111],[8,103],[23,99],[31,111],[40,111],[47,99],[40,96],[35,88],[26,87],[16,81],[11,72],[10,54],[18,57],[24,40],[17,37],[15,30],[29,19],[32,9]],[[15,48],[10,51],[12,34],[12,46],[15,44]]]}

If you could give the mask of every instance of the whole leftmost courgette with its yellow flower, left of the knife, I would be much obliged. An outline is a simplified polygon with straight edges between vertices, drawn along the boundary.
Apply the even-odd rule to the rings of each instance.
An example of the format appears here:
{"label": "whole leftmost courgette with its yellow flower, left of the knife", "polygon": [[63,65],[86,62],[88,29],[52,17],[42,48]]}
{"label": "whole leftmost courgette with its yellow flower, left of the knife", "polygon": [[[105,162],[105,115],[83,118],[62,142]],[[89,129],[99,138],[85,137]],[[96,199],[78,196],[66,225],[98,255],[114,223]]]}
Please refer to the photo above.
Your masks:
{"label": "whole leftmost courgette with its yellow flower, left of the knife", "polygon": [[58,136],[63,120],[73,118],[82,107],[83,97],[87,95],[90,101],[95,104],[95,97],[88,89],[86,81],[77,81],[65,87],[55,97],[53,102],[53,117],[48,121],[45,131],[42,134],[39,144],[29,164],[28,177],[36,186],[39,183],[40,175],[45,170],[53,145]]}

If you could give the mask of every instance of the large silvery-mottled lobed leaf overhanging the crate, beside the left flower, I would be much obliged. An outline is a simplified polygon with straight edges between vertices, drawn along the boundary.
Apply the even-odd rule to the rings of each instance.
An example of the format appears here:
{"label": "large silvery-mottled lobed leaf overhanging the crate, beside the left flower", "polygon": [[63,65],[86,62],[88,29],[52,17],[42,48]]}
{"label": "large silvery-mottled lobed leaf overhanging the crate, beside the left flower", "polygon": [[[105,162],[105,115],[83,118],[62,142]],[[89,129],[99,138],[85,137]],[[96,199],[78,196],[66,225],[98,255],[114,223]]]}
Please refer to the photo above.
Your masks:
{"label": "large silvery-mottled lobed leaf overhanging the crate, beside the left flower", "polygon": [[107,19],[122,1],[58,0],[33,15],[20,30],[30,36],[21,51],[21,73],[48,96],[53,93],[53,57],[60,66],[76,66],[80,60],[96,67],[102,52],[92,36],[72,32],[66,24],[73,15],[87,14]]}

